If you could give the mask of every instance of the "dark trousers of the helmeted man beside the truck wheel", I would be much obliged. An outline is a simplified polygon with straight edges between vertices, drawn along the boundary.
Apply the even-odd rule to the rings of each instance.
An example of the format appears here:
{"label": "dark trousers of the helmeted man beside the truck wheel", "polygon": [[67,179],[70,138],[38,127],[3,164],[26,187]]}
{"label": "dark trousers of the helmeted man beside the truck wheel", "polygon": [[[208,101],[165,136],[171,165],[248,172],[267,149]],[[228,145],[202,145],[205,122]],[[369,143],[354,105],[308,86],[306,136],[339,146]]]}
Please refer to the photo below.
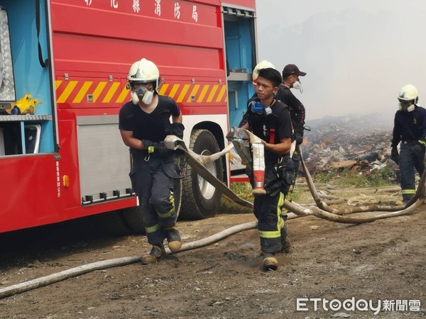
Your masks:
{"label": "dark trousers of the helmeted man beside the truck wheel", "polygon": [[175,158],[175,155],[165,159],[154,155],[147,157],[143,152],[133,155],[135,191],[143,214],[146,237],[151,245],[162,244],[167,237],[165,228],[173,225],[177,219],[173,196],[175,179],[170,177],[177,167]]}

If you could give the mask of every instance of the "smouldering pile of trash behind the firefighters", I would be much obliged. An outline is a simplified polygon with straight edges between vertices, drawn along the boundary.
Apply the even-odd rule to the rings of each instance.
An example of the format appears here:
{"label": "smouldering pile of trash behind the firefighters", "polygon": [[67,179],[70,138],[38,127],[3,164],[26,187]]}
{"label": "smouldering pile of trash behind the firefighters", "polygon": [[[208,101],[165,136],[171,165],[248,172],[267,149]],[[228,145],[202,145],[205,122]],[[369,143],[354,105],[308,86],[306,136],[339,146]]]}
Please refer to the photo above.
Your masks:
{"label": "smouldering pile of trash behind the firefighters", "polygon": [[[368,116],[374,121],[372,116]],[[371,171],[397,165],[391,155],[392,126],[365,123],[354,116],[337,118],[305,131],[303,158],[310,173],[347,168]],[[368,173],[367,173],[368,174]]]}

